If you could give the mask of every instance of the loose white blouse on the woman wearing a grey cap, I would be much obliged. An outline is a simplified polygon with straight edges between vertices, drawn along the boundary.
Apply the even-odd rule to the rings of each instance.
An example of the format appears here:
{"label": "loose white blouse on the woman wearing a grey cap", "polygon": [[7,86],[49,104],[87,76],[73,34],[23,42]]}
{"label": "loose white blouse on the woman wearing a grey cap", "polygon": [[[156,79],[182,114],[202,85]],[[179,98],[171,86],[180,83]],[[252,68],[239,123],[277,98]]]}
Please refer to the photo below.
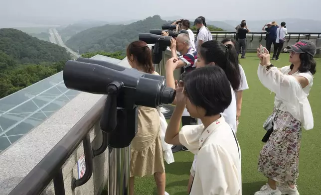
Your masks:
{"label": "loose white blouse on the woman wearing a grey cap", "polygon": [[[283,67],[281,71],[277,67],[271,67],[267,71],[265,66],[259,65],[258,77],[264,87],[276,94],[275,106],[280,104],[280,110],[290,112],[294,118],[302,122],[306,130],[310,130],[314,121],[308,95],[313,85],[313,75],[310,72],[288,75],[289,69],[290,66]],[[302,88],[294,76],[305,77],[309,85]]]}

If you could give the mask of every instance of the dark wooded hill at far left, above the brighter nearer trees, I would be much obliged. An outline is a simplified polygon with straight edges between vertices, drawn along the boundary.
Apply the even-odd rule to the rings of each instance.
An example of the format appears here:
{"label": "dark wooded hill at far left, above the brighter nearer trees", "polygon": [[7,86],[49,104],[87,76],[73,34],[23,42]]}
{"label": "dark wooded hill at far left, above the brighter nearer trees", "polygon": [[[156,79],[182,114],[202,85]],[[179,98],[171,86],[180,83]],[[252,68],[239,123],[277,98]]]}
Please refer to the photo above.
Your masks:
{"label": "dark wooded hill at far left, above the brighter nearer trees", "polygon": [[13,28],[0,29],[0,56],[4,55],[21,64],[70,59],[70,54],[65,48]]}

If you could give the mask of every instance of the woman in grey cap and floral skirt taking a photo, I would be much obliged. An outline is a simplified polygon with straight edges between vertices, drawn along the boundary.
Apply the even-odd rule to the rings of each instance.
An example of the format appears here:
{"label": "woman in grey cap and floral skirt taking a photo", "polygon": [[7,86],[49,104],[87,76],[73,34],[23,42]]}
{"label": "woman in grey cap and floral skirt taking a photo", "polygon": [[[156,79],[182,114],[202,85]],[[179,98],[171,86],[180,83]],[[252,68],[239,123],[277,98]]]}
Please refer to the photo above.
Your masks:
{"label": "woman in grey cap and floral skirt taking a photo", "polygon": [[[258,171],[268,178],[268,184],[255,195],[299,195],[299,151],[302,129],[314,126],[308,95],[316,73],[316,45],[302,40],[288,46],[290,66],[278,69],[270,62],[266,48],[258,48],[258,77],[264,87],[275,93],[272,134],[260,152]],[[269,117],[270,118],[270,117]],[[279,183],[277,185],[277,182]]]}

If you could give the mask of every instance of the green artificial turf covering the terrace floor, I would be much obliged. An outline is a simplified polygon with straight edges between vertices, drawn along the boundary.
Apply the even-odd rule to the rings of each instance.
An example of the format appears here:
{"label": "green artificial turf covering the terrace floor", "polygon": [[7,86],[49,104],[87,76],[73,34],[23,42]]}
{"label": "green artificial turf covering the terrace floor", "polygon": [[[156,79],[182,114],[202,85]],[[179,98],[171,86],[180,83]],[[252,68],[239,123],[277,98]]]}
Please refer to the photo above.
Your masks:
{"label": "green artificial turf covering the terrace floor", "polygon": [[[275,66],[289,65],[288,54],[281,54],[281,61],[271,61]],[[274,95],[264,88],[257,77],[259,60],[254,53],[247,53],[246,59],[240,60],[245,71],[249,90],[244,91],[243,106],[237,138],[242,152],[243,195],[253,195],[266,179],[257,172],[257,159],[265,134],[263,122],[272,112]],[[300,152],[300,176],[298,190],[301,195],[319,195],[321,192],[321,59],[317,59],[317,74],[309,99],[314,114],[314,129],[303,132]],[[167,165],[166,192],[170,195],[187,195],[187,181],[193,155],[190,152],[174,153],[175,162]],[[215,173],[213,173],[215,174]],[[136,178],[135,195],[157,195],[154,177]]]}

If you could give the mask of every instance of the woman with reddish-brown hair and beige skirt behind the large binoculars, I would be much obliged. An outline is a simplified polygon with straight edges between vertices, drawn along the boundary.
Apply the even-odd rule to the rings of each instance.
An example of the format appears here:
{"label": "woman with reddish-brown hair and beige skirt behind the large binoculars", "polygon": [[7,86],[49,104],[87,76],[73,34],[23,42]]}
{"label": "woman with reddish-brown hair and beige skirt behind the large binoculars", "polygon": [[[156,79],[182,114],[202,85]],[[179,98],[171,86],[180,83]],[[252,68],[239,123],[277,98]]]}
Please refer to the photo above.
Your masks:
{"label": "woman with reddish-brown hair and beige skirt behind the large binoculars", "polygon": [[[154,71],[152,51],[144,41],[134,41],[127,47],[127,60],[138,71],[158,74]],[[156,108],[138,107],[138,131],[131,143],[130,172],[130,195],[134,195],[135,176],[153,174],[158,194],[167,194],[160,140],[160,115]]]}

